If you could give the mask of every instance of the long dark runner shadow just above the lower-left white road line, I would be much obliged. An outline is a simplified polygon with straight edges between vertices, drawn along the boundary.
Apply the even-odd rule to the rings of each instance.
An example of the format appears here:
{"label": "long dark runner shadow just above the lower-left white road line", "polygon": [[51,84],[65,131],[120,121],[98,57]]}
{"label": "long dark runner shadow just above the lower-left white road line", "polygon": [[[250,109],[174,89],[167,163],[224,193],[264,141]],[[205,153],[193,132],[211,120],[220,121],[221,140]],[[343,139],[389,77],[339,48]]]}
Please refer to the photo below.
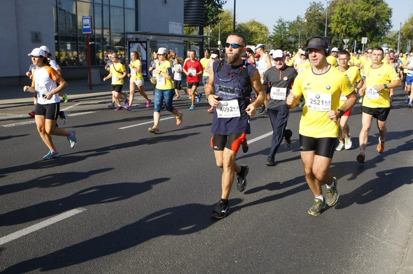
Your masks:
{"label": "long dark runner shadow just above the lower-left white road line", "polygon": [[96,185],[78,191],[66,198],[45,201],[0,215],[0,226],[24,224],[47,218],[75,208],[116,202],[134,197],[152,189],[152,186],[170,180],[159,178],[143,183],[111,183]]}

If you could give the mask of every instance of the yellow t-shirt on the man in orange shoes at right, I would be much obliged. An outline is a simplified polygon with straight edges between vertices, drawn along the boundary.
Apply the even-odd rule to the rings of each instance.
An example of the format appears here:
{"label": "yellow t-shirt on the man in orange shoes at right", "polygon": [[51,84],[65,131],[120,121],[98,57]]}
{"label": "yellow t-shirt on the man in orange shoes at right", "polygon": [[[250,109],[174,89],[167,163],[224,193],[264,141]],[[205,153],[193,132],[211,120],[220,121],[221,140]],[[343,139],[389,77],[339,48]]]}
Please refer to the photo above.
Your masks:
{"label": "yellow t-shirt on the man in orange shoes at right", "polygon": [[363,107],[390,107],[389,89],[384,89],[379,92],[374,91],[374,85],[388,84],[393,81],[400,80],[396,70],[383,63],[378,68],[365,67],[365,95],[363,99]]}

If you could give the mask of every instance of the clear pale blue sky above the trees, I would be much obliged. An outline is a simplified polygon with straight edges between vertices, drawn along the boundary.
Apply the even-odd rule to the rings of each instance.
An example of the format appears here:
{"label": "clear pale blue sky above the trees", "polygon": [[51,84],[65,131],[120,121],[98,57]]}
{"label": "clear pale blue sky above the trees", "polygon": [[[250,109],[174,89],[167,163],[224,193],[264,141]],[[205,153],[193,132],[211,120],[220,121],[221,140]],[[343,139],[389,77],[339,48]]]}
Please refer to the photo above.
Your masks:
{"label": "clear pale blue sky above the trees", "polygon": [[[234,10],[234,1],[236,0],[227,0],[226,4],[223,5],[223,9]],[[279,2],[279,0],[258,0],[256,2],[251,0],[238,0],[236,1],[235,7],[235,20],[241,23],[255,19],[266,25],[270,32],[272,32],[272,26],[279,17],[286,21],[293,21],[298,15],[304,16],[306,9],[309,7],[309,3],[312,1],[324,2],[324,4],[326,4],[326,0],[289,0],[286,2],[290,4],[290,8],[285,9],[283,5],[280,5],[281,1]],[[400,23],[402,23],[401,25],[403,26],[407,18],[413,14],[413,0],[385,0],[385,2],[393,8],[393,28],[391,30],[399,30]],[[266,7],[269,8],[266,9]]]}

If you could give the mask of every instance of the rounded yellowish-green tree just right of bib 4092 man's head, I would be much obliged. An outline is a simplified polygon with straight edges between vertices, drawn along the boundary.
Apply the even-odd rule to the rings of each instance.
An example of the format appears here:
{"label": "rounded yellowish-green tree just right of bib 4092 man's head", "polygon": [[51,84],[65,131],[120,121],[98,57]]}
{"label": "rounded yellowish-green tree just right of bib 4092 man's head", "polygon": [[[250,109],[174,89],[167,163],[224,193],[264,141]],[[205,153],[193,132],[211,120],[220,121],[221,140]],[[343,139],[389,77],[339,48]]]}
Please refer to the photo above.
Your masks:
{"label": "rounded yellowish-green tree just right of bib 4092 man's head", "polygon": [[263,23],[251,19],[245,23],[236,24],[235,31],[242,33],[247,39],[248,45],[264,44],[268,42],[270,31]]}

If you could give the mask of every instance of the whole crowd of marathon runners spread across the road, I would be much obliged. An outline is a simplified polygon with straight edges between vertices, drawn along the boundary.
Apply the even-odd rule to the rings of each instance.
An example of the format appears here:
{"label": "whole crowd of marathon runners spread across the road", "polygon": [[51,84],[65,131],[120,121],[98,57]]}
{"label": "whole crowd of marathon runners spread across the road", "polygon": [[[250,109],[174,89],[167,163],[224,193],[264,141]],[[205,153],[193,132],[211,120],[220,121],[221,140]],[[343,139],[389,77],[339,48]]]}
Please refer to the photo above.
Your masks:
{"label": "whole crowd of marathon runners spread across the road", "polygon": [[[175,116],[177,125],[182,123],[183,112],[173,106],[173,99],[180,98],[182,89],[191,100],[189,111],[192,111],[204,95],[198,92],[200,83],[205,86],[206,101],[210,105],[207,111],[213,114],[211,148],[216,165],[222,168],[222,193],[211,213],[214,218],[223,218],[229,213],[228,199],[235,175],[238,191],[242,192],[247,185],[249,167],[238,165],[235,159],[240,147],[243,152],[248,151],[246,136],[251,133],[250,117],[255,113],[270,118],[273,134],[265,164],[272,167],[276,165],[280,145],[284,142],[288,148],[291,143],[293,132],[286,127],[289,109],[302,107],[298,132],[300,154],[306,182],[314,195],[314,204],[308,213],[318,215],[325,204],[333,206],[338,200],[338,182],[329,167],[334,151],[352,147],[348,120],[357,100],[362,104],[360,151],[355,155],[359,163],[366,160],[373,119],[380,133],[377,151],[384,151],[386,119],[394,89],[402,83],[407,92],[407,107],[412,107],[413,53],[396,54],[374,47],[359,55],[332,47],[323,36],[312,37],[291,54],[282,49],[265,51],[263,44],[249,48],[245,37],[238,33],[229,35],[224,46],[223,54],[206,49],[200,60],[195,50],[188,50],[188,58],[183,60],[174,51],[161,47],[153,52],[148,69],[154,85],[154,124],[148,131],[154,134],[161,132],[162,109]],[[72,148],[76,145],[76,132],[65,131],[57,125],[59,115],[66,121],[65,113],[60,111],[59,94],[67,101],[67,95],[62,93],[67,84],[60,67],[48,58],[48,50],[35,48],[29,56],[33,65],[27,75],[32,85],[25,86],[24,91],[35,94],[35,121],[49,149],[44,159],[50,159],[59,156],[52,135],[67,137]],[[146,100],[146,107],[151,107],[152,100],[143,89],[139,53],[130,52],[129,73],[116,53],[109,53],[108,58],[105,68],[109,74],[103,80],[111,79],[109,107],[130,111],[136,89]],[[183,74],[188,89],[183,87]],[[129,99],[122,91],[126,77],[130,77]],[[323,184],[326,185],[325,198]]]}

